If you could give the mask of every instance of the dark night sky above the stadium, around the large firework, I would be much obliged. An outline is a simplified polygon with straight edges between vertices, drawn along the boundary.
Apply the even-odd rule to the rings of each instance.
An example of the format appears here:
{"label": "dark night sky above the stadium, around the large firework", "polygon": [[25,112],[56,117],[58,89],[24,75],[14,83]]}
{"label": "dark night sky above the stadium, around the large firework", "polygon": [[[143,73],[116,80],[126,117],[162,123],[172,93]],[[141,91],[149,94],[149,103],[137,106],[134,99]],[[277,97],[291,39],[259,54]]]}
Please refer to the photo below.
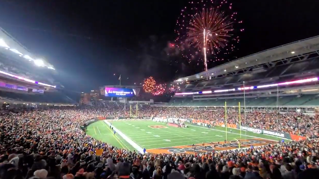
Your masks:
{"label": "dark night sky above the stadium, around the large firework", "polygon": [[[319,35],[319,1],[232,2],[245,29],[233,56]],[[176,38],[176,20],[186,4],[183,0],[1,0],[0,26],[53,64],[57,81],[71,90],[116,85],[119,74],[122,85],[139,84],[147,76],[169,82],[200,72],[183,65],[182,58],[172,65],[172,59],[163,56],[167,43]],[[219,64],[209,67],[215,65]]]}

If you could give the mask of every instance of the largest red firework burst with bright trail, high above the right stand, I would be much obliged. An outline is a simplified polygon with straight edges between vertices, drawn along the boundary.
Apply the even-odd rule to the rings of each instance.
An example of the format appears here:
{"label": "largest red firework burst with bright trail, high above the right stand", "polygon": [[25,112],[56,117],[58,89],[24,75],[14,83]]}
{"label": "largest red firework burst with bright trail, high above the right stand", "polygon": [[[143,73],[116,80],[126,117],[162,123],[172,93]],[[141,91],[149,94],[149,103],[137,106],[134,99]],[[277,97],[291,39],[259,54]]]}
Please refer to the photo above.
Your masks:
{"label": "largest red firework burst with bright trail, high above the right stand", "polygon": [[214,54],[209,61],[222,61],[222,55],[235,50],[234,42],[239,42],[235,26],[242,23],[236,20],[236,15],[226,0],[189,2],[177,21],[176,47],[190,62],[203,61],[207,71],[207,55]]}

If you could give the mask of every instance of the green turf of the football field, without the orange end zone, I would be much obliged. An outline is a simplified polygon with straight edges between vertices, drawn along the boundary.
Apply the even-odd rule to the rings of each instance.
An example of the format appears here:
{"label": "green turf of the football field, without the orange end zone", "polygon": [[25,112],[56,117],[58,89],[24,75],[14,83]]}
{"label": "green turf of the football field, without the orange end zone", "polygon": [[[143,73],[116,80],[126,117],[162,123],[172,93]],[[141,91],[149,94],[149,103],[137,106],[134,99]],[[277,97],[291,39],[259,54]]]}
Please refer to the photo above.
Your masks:
{"label": "green turf of the football field, without the orange end zone", "polygon": [[[151,120],[127,120],[127,121],[108,121],[112,123],[112,126],[121,131],[126,137],[135,142],[138,146],[149,149],[161,149],[167,148],[172,149],[172,147],[185,148],[187,145],[201,143],[211,143],[217,141],[224,141],[226,139],[226,131],[224,127],[214,127],[209,129],[201,126],[188,125],[187,128],[176,128],[166,125],[161,122],[154,122]],[[149,126],[163,126],[165,128],[151,128]],[[256,134],[253,132],[243,131],[240,136],[240,131],[238,129],[227,129],[227,141],[234,139],[242,139],[242,141],[251,141],[255,139],[260,140],[275,140],[279,141],[281,138],[273,137],[263,134]],[[127,142],[118,133],[113,135],[113,131],[110,129],[104,121],[98,121],[90,124],[87,127],[87,134],[92,137],[110,143],[114,146],[120,148],[126,148],[130,150],[136,150],[129,142]],[[263,141],[266,144],[268,141]],[[247,144],[248,145],[248,144]],[[250,144],[249,144],[250,145]],[[236,146],[229,146],[235,147]],[[244,147],[244,143],[242,145]],[[247,147],[247,146],[246,146]],[[222,147],[221,147],[222,148]],[[223,149],[223,148],[222,148]],[[231,148],[224,148],[231,149]],[[221,150],[221,149],[220,149]],[[163,152],[163,151],[161,151]]]}

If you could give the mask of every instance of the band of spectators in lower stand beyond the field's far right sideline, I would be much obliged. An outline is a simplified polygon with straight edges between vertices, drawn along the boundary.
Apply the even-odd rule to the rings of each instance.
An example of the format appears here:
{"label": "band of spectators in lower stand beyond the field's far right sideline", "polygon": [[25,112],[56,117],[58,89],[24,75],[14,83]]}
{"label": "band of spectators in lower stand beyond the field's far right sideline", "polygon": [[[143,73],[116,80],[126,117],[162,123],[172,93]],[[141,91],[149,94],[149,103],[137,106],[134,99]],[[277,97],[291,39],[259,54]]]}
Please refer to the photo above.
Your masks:
{"label": "band of spectators in lower stand beyond the field's far right sideline", "polygon": [[[157,117],[175,117],[183,119],[201,119],[213,122],[225,122],[225,111],[191,108],[154,108],[152,114]],[[227,123],[239,124],[239,112],[227,111]],[[317,137],[319,116],[297,112],[242,112],[241,125],[260,129],[286,132],[307,137]]]}

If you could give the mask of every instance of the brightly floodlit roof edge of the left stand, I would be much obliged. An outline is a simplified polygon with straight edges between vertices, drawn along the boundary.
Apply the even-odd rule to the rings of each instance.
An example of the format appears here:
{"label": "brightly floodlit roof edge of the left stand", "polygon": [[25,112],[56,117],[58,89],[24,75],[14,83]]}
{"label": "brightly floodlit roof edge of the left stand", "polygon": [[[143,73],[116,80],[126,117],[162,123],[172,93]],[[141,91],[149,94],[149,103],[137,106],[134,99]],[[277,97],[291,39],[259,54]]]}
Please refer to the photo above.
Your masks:
{"label": "brightly floodlit roof edge of the left stand", "polygon": [[42,59],[36,58],[33,54],[31,54],[28,49],[19,43],[14,37],[12,37],[9,33],[7,33],[4,29],[0,27],[0,48],[5,48],[8,50],[7,54],[12,53],[12,55],[17,55],[19,58],[25,58],[29,61],[33,61],[36,66],[39,67],[47,67],[49,69],[55,70],[53,65],[45,62]]}

